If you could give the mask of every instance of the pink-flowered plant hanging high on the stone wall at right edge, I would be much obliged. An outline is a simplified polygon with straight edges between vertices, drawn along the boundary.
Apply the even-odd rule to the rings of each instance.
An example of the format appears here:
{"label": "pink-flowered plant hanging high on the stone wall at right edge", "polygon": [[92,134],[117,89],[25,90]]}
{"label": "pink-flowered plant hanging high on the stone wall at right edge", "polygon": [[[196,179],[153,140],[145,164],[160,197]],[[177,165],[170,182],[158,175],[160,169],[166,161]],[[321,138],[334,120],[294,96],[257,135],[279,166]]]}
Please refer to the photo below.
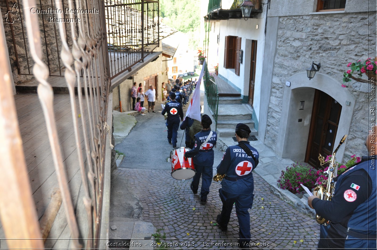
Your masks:
{"label": "pink-flowered plant hanging high on the stone wall at right edge", "polygon": [[351,68],[343,73],[342,87],[347,87],[345,83],[351,81],[350,78],[352,77],[352,75],[354,75],[354,72],[358,72],[357,75],[359,75],[360,77],[363,76],[363,74],[366,74],[368,76],[377,75],[376,58],[374,60],[371,60],[371,58],[369,57],[364,62],[362,62],[361,60],[357,62],[349,62],[347,67]]}

